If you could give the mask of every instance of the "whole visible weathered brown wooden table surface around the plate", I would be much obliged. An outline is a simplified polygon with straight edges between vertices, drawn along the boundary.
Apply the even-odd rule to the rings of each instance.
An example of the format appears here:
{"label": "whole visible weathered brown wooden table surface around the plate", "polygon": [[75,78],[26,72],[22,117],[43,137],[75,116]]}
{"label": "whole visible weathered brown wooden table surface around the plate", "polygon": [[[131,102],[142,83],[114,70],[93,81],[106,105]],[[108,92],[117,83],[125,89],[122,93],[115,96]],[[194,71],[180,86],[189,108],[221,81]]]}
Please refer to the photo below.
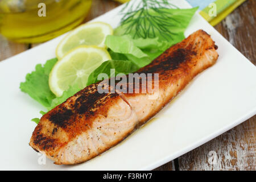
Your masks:
{"label": "whole visible weathered brown wooden table surface around the plate", "polygon": [[[85,22],[121,5],[94,0]],[[256,64],[256,1],[247,0],[214,28]],[[0,61],[37,44],[18,44],[0,36]],[[255,80],[256,81],[256,80]],[[242,97],[242,96],[241,96]],[[155,170],[256,170],[256,115],[208,143]]]}

